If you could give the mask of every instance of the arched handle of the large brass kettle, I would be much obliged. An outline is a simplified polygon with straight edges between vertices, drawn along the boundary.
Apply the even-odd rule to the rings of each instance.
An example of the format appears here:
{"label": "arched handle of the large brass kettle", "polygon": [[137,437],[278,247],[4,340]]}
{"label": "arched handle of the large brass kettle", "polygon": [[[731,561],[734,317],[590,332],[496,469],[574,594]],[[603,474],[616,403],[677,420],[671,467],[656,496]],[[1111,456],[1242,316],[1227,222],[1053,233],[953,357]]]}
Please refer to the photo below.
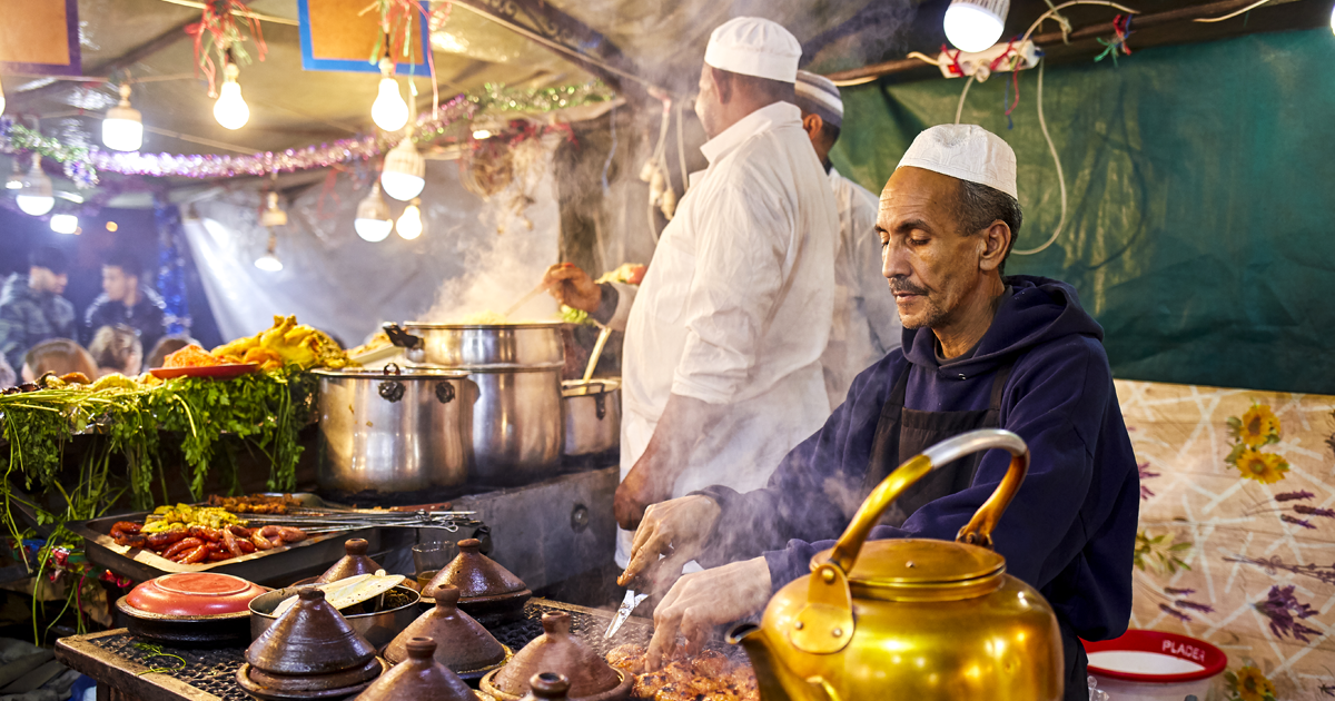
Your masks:
{"label": "arched handle of the large brass kettle", "polygon": [[857,555],[862,550],[862,543],[866,542],[866,537],[872,533],[872,527],[876,526],[881,514],[904,490],[943,465],[949,465],[964,455],[993,447],[1011,453],[1011,469],[1007,470],[1005,477],[1001,478],[1001,483],[997,485],[992,497],[979,507],[973,518],[960,529],[959,535],[955,538],[956,542],[992,547],[992,529],[1001,519],[1001,514],[1011,505],[1011,499],[1020,490],[1020,483],[1024,482],[1024,475],[1029,470],[1029,447],[1024,445],[1023,438],[1011,431],[980,429],[956,435],[924,450],[921,454],[909,458],[908,462],[900,465],[898,469],[882,479],[872,490],[866,501],[862,502],[862,506],[858,507],[853,515],[853,522],[840,535],[834,550],[830,553],[829,562],[837,565],[845,574],[852,571],[853,565],[857,562]]}

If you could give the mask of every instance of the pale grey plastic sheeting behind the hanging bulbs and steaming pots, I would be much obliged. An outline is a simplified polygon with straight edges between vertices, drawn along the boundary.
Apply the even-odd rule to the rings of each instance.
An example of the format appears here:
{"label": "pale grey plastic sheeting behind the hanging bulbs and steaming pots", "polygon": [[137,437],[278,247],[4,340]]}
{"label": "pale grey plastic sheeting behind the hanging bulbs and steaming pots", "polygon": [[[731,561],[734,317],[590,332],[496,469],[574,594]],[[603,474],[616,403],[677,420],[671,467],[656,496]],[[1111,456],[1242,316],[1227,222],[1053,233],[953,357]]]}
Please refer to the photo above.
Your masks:
{"label": "pale grey plastic sheeting behind the hanging bulbs and steaming pots", "polygon": [[[398,234],[379,243],[358,238],[352,218],[368,186],[358,187],[347,175],[331,190],[315,186],[287,206],[288,224],[276,230],[279,272],[254,264],[268,242],[255,191],[216,191],[196,202],[184,230],[224,338],[267,328],[275,314],[295,314],[355,346],[380,323],[422,319],[433,306],[438,308],[430,320],[457,320],[505,310],[531,290],[557,262],[550,159],[542,167],[545,175],[529,192],[534,204],[523,210],[533,230],[513,214],[513,192],[483,202],[463,188],[453,162],[427,162],[425,232],[417,240]],[[398,218],[403,203],[386,202]],[[554,312],[547,296],[523,308],[526,318]]]}

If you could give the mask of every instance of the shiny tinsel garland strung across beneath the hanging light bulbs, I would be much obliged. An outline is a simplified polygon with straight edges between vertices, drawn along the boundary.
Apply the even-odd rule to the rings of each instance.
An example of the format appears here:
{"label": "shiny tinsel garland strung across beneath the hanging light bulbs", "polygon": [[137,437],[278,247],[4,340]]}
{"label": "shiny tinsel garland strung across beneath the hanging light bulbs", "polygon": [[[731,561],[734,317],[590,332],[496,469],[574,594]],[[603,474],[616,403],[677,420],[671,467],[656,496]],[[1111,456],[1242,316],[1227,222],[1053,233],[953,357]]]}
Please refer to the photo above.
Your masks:
{"label": "shiny tinsel garland strung across beneath the hanging light bulbs", "polygon": [[[509,89],[498,84],[485,85],[483,95],[459,93],[443,103],[439,118],[423,115],[411,131],[414,142],[431,142],[457,122],[473,122],[483,112],[546,113],[554,109],[602,103],[613,99],[602,83],[563,85],[541,89]],[[368,160],[388,151],[396,142],[367,135],[340,139],[328,144],[267,151],[248,156],[172,155],[111,152],[100,148],[69,146],[56,138],[40,134],[0,118],[0,152],[27,151],[41,154],[60,163],[67,178],[79,187],[97,184],[97,171],[123,175],[151,175],[155,178],[232,178],[238,175],[262,176],[275,171],[291,172],[327,168],[351,160]]]}

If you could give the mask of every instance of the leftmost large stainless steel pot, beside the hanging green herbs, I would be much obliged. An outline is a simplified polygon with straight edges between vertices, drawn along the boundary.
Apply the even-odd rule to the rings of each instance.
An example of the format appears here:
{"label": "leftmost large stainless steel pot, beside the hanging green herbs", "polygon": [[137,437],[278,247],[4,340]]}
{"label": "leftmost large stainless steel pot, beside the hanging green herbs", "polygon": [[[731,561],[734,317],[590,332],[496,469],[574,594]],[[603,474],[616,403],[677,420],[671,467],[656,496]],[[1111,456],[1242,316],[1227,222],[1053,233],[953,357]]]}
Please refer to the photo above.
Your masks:
{"label": "leftmost large stainless steel pot, beside the hanging green herbs", "polygon": [[340,491],[415,491],[465,483],[477,393],[457,370],[316,370],[316,482]]}

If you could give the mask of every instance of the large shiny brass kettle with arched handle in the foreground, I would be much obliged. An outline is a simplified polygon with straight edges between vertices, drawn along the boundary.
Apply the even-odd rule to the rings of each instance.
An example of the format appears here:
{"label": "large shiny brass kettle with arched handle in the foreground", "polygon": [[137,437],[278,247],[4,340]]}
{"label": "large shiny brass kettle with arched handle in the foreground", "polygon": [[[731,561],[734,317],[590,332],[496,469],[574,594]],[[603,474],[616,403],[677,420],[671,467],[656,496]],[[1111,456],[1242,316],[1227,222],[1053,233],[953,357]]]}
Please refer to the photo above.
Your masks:
{"label": "large shiny brass kettle with arched handle in the foreground", "polygon": [[[881,513],[933,469],[987,449],[1011,453],[1001,485],[955,542],[866,542]],[[742,645],[765,701],[1049,701],[1063,694],[1061,633],[1047,600],[1005,574],[992,529],[1029,466],[997,429],[957,435],[890,473],[812,575],[781,589]]]}

